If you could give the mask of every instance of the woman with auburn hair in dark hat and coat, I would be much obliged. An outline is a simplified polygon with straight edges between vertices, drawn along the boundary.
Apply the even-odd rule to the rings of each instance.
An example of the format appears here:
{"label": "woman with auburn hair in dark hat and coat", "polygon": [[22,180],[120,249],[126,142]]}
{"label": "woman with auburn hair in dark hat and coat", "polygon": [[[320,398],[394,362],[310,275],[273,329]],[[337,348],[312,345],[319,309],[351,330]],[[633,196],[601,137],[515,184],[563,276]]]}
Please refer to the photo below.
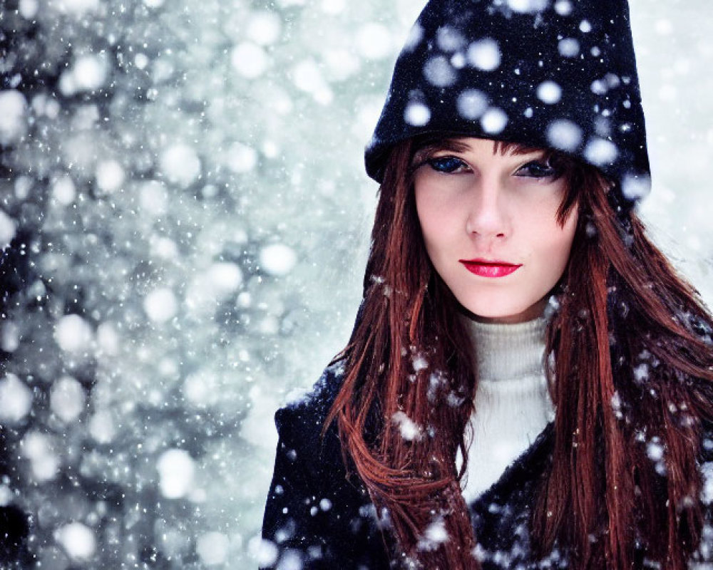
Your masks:
{"label": "woman with auburn hair in dark hat and coat", "polygon": [[625,0],[429,2],[366,169],[364,300],[276,415],[267,566],[709,562],[713,322],[633,209]]}

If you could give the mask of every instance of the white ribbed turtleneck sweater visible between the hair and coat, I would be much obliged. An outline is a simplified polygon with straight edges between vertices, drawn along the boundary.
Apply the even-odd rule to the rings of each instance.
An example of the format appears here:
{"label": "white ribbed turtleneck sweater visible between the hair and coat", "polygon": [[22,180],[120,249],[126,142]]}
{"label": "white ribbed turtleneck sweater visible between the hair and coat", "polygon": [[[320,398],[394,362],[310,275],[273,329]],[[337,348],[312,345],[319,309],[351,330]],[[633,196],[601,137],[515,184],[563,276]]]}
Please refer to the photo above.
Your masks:
{"label": "white ribbed turtleneck sweater visible between the hair and coat", "polygon": [[[554,419],[543,370],[544,318],[517,324],[468,320],[478,389],[463,497],[473,502]],[[461,457],[458,457],[458,465]]]}

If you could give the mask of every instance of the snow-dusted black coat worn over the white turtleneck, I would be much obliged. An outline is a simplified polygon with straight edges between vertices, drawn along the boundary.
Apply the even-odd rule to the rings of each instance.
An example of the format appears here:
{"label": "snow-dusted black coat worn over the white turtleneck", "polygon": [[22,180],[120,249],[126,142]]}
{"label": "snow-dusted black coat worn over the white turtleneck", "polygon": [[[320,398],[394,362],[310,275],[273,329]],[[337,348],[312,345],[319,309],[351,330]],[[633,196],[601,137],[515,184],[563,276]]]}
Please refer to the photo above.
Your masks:
{"label": "snow-dusted black coat worn over the white turtleneck", "polygon": [[[356,475],[351,482],[347,481],[336,427],[331,425],[321,437],[324,418],[341,380],[339,366],[327,368],[307,398],[275,414],[279,442],[262,537],[277,547],[278,557],[263,566],[265,569],[389,568],[369,494]],[[553,440],[550,424],[501,478],[470,505],[483,570],[568,567],[565,551],[555,549],[546,559],[535,559],[530,548],[530,505],[536,482],[550,460]],[[704,449],[712,447],[704,445]],[[702,460],[713,461],[713,452],[707,455]],[[707,519],[710,524],[710,513]],[[709,540],[713,541],[713,537]],[[713,543],[704,544],[702,551],[711,550],[712,546]],[[637,553],[637,568],[645,566],[644,556],[644,552]],[[297,559],[301,566],[291,564]],[[709,564],[710,560],[706,560],[699,568],[713,569]]]}

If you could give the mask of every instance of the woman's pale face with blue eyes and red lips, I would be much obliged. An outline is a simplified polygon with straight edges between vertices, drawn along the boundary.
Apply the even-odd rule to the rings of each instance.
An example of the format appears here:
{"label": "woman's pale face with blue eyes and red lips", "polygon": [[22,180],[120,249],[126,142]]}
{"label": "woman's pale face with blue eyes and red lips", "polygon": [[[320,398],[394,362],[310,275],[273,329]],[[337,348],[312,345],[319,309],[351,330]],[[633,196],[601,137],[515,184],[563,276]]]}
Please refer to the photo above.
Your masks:
{"label": "woman's pale face with blue eyes and red lips", "polygon": [[563,225],[557,219],[566,177],[541,150],[496,152],[476,138],[444,146],[414,157],[416,209],[436,271],[483,321],[540,316],[577,226],[577,207]]}

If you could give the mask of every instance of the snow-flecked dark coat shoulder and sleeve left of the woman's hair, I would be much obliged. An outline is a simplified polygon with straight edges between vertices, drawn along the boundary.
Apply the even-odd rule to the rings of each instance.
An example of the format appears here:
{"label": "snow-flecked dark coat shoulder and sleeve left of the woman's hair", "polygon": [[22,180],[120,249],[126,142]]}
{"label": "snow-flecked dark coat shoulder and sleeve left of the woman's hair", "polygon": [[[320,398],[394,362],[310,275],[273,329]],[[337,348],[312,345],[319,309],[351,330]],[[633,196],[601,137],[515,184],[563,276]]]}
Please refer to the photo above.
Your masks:
{"label": "snow-flecked dark coat shoulder and sleeve left of the woman's hair", "polygon": [[389,567],[369,494],[347,477],[337,427],[322,433],[343,376],[332,363],[309,393],[275,414],[279,442],[262,524],[279,554],[270,568]]}

